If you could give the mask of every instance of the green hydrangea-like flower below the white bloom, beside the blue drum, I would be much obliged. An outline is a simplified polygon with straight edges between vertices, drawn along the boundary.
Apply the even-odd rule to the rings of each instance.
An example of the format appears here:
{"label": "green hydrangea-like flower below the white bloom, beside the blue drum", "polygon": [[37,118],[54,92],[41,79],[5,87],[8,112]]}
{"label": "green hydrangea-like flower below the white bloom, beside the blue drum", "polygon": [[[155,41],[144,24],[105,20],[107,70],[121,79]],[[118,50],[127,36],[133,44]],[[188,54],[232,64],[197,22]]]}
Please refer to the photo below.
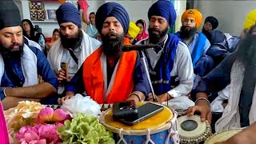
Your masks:
{"label": "green hydrangea-like flower below the white bloom, beside the blue drum", "polygon": [[66,120],[58,127],[58,134],[63,144],[114,144],[113,134],[91,115],[78,114],[71,122]]}

